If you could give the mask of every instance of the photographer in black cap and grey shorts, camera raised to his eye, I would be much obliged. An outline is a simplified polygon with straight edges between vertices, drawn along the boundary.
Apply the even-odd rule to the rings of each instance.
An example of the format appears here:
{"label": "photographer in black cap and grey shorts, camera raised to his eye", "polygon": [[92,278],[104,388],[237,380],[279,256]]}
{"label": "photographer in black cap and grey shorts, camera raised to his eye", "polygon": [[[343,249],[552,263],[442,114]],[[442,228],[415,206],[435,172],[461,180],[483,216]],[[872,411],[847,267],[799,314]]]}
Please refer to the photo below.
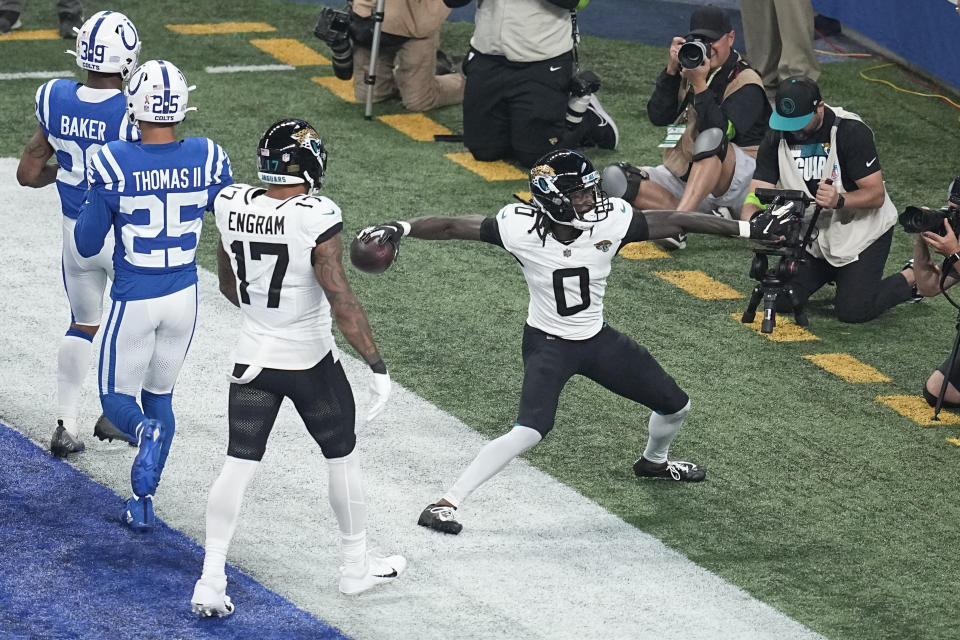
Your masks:
{"label": "photographer in black cap and grey shorts, camera raised to his eye", "polygon": [[[733,49],[734,36],[723,10],[705,6],[693,12],[690,32],[673,39],[647,103],[650,122],[667,126],[663,164],[607,167],[610,195],[640,209],[711,213],[726,207],[736,217],[770,105],[759,74]],[[682,248],[685,236],[664,244]]]}

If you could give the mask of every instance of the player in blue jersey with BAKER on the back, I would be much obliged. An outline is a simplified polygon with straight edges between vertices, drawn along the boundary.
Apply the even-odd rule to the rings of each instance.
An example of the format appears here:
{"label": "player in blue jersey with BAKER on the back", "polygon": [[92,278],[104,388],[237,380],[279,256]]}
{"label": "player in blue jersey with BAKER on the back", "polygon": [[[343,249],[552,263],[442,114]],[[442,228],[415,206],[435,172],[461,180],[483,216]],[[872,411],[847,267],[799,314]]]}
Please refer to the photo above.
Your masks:
{"label": "player in blue jersey with BAKER on the back", "polygon": [[[113,277],[113,235],[90,257],[77,252],[73,240],[80,204],[87,191],[86,164],[113,140],[137,140],[139,131],[127,119],[123,81],[137,67],[140,37],[122,13],[100,11],[77,32],[77,65],[86,81],[51,80],[37,89],[36,115],[40,126],[20,158],[17,180],[27,187],[57,183],[63,212],[63,286],[70,303],[70,327],[57,352],[57,427],[50,452],[64,457],[83,451],[77,424],[93,337],[103,315],[103,291]],[[48,161],[56,155],[56,164]],[[125,438],[101,416],[95,434],[102,439]]]}

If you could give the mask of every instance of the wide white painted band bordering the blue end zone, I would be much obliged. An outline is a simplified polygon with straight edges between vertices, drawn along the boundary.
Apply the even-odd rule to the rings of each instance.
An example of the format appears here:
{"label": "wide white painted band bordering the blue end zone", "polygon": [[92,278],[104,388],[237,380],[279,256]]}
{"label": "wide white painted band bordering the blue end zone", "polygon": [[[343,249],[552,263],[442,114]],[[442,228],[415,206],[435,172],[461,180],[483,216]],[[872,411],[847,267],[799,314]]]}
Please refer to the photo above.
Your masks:
{"label": "wide white painted band bordering the blue end zone", "polygon": [[[238,150],[234,162],[244,162],[246,153]],[[69,321],[60,280],[59,203],[53,185],[16,186],[16,165],[0,158],[0,417],[46,448],[55,418],[58,341]],[[156,509],[202,544],[207,492],[226,452],[224,374],[239,320],[213,274],[201,270],[200,285],[200,319],[174,397],[177,431]],[[343,361],[363,415],[369,368],[346,356]],[[80,417],[87,427],[100,413],[95,379],[88,376],[83,397]],[[511,463],[464,505],[459,536],[418,527],[420,510],[484,439],[402,387],[394,388],[389,406],[389,413],[358,428],[358,451],[371,541],[407,557],[400,580],[357,598],[338,593],[326,467],[289,403],[247,491],[230,562],[358,640],[441,631],[458,640],[822,640],[524,461]],[[81,431],[87,451],[71,463],[128,495],[136,449],[101,443],[87,427]],[[658,486],[623,489],[648,491],[655,503]],[[119,499],[103,505],[105,517],[119,507]],[[190,595],[188,585],[184,615]]]}

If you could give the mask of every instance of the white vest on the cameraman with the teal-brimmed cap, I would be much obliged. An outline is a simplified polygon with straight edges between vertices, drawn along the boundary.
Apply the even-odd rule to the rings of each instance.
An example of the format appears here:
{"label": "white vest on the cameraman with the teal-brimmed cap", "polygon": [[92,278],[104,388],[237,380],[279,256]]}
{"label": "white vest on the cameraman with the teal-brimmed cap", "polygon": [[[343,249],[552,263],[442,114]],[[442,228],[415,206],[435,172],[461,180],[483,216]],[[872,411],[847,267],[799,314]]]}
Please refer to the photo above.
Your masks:
{"label": "white vest on the cameraman with the teal-brimmed cap", "polygon": [[[843,167],[837,159],[837,125],[841,119],[863,122],[855,113],[839,107],[830,107],[837,119],[830,129],[830,150],[827,152],[825,167],[830,167],[830,176],[837,191],[844,193]],[[790,152],[790,145],[780,136],[777,150],[780,167],[780,185],[784,189],[799,189],[813,197],[803,180],[803,172]],[[828,177],[828,176],[824,176]],[[807,208],[806,218],[813,215],[815,205]],[[823,209],[817,219],[817,237],[807,247],[807,252],[816,258],[823,258],[834,267],[842,267],[856,262],[860,253],[876,242],[897,222],[897,208],[890,200],[886,186],[883,189],[883,204],[877,209]]]}

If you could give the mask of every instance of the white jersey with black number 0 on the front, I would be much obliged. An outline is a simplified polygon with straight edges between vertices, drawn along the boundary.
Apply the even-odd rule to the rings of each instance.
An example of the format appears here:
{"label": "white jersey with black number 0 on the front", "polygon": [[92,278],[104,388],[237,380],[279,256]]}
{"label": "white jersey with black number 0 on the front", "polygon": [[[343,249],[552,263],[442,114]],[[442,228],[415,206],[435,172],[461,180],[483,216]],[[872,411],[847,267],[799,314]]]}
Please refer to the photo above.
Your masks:
{"label": "white jersey with black number 0 on the front", "polygon": [[[603,327],[603,294],[610,262],[633,221],[633,208],[618,198],[603,221],[569,244],[536,231],[532,207],[507,205],[497,214],[503,247],[516,256],[530,289],[527,324],[567,340],[586,340]],[[642,215],[642,214],[638,214]]]}

